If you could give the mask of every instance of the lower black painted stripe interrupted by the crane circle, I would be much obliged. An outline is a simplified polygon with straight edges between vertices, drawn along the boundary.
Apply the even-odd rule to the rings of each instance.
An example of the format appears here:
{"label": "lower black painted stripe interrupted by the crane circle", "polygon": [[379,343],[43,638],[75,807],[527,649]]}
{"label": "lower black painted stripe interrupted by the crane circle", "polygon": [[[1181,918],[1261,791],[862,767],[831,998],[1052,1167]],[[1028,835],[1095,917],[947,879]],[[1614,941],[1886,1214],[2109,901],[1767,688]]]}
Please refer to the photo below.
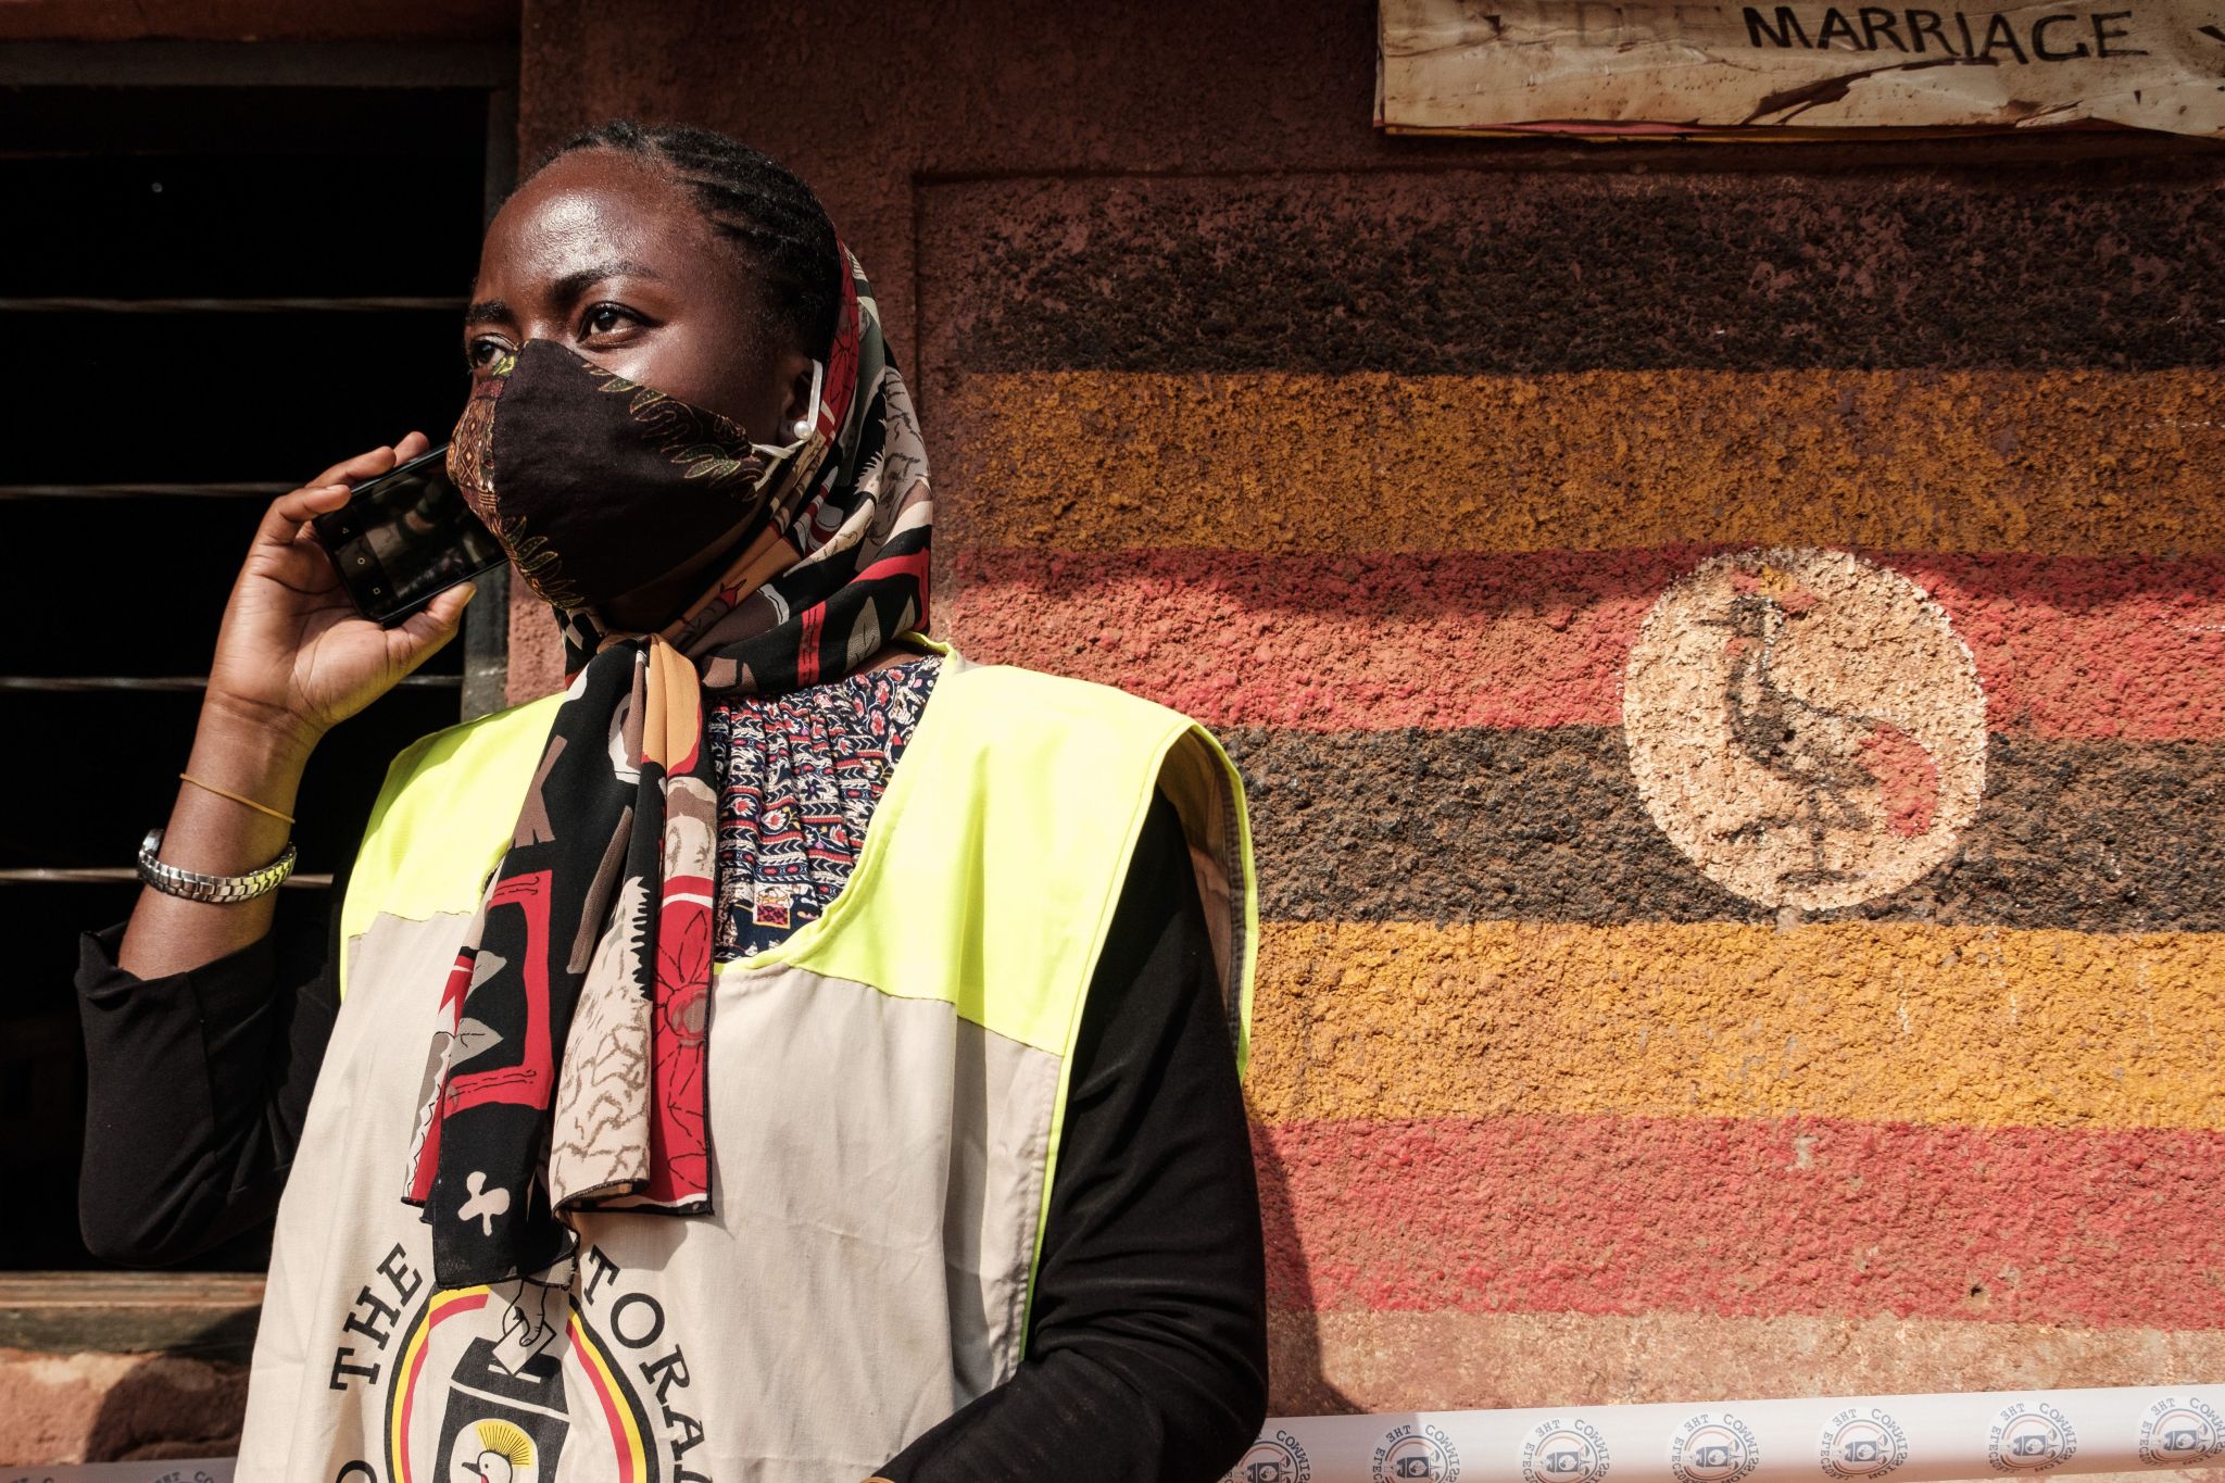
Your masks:
{"label": "lower black painted stripe interrupted by the crane circle", "polygon": [[[1655,829],[1622,731],[1233,731],[1268,918],[1771,920]],[[1956,856],[1845,912],[1880,920],[2225,929],[2225,743],[1994,736]]]}

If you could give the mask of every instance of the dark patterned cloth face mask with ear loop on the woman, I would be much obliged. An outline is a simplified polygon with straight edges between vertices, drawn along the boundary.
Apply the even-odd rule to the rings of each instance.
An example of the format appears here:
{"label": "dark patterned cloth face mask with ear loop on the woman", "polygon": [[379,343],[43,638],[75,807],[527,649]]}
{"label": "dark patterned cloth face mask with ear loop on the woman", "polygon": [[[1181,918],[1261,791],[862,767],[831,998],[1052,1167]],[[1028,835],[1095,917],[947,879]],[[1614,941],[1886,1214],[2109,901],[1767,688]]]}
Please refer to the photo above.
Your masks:
{"label": "dark patterned cloth face mask with ear loop on the woman", "polygon": [[[812,414],[823,369],[812,362]],[[799,425],[801,427],[801,425]],[[472,387],[447,476],[525,583],[599,607],[763,518],[785,518],[825,438],[752,442],[739,422],[558,340],[505,351]]]}

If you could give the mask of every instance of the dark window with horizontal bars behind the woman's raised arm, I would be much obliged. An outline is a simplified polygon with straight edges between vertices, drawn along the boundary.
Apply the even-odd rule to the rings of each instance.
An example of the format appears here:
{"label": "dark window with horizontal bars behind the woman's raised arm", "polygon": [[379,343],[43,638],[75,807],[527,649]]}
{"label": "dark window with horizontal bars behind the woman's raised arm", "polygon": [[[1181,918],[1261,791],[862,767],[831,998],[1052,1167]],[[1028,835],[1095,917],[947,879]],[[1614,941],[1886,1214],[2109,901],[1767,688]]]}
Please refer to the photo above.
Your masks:
{"label": "dark window with horizontal bars behind the woman's raised arm", "polygon": [[[0,60],[0,1270],[78,1241],[78,932],[169,812],[263,505],[447,440],[478,227],[514,173],[507,47],[47,44]],[[407,740],[501,703],[503,600],[338,727],[283,920],[320,923]],[[260,1267],[236,1243],[198,1263]]]}

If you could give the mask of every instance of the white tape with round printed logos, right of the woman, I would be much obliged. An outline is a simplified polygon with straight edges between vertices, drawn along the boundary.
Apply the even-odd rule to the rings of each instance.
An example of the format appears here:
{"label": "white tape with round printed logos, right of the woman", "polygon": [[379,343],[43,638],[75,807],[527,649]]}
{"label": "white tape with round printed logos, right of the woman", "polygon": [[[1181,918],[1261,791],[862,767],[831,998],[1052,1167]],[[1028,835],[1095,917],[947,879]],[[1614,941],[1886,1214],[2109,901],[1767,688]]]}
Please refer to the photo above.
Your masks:
{"label": "white tape with round printed logos, right of the woman", "polygon": [[1233,1483],[1925,1483],[2203,1467],[2225,1385],[1268,1421]]}

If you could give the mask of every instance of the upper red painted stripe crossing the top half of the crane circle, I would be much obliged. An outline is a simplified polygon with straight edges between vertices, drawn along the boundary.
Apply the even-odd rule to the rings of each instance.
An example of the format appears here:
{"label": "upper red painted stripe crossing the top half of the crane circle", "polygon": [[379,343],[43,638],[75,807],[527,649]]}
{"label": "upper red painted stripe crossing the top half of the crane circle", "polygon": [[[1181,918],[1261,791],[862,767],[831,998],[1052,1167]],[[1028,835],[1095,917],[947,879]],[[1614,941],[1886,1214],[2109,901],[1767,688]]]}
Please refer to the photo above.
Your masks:
{"label": "upper red painted stripe crossing the top half of the crane circle", "polygon": [[[1208,725],[1620,725],[1646,609],[1709,549],[957,560],[972,658],[1104,680]],[[1873,554],[1940,600],[1996,731],[2225,736],[2225,560]]]}

